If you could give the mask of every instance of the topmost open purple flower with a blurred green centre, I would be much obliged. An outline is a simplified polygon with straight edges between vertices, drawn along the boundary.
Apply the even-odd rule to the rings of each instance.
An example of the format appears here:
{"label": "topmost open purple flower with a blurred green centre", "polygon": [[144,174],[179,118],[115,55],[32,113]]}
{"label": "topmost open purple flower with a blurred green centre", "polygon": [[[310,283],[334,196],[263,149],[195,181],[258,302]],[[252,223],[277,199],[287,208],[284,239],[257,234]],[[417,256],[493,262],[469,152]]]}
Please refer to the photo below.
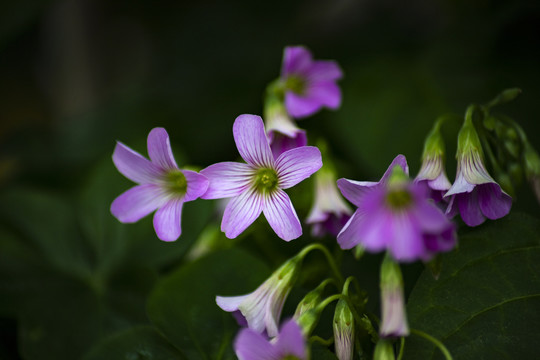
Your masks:
{"label": "topmost open purple flower with a blurred green centre", "polygon": [[341,91],[336,84],[343,76],[335,61],[314,61],[305,47],[286,47],[281,79],[285,84],[285,106],[292,117],[302,118],[323,106],[337,109]]}

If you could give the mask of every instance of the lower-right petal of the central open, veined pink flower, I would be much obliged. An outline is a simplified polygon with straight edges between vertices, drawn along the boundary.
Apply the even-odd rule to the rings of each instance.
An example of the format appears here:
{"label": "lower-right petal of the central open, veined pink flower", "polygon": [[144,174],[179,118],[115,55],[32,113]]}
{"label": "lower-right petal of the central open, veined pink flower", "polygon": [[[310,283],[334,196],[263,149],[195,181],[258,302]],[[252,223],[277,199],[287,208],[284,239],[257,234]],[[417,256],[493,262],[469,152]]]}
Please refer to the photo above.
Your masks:
{"label": "lower-right petal of the central open, veined pink flower", "polygon": [[285,191],[277,189],[264,200],[264,216],[277,236],[290,241],[302,235],[302,225]]}

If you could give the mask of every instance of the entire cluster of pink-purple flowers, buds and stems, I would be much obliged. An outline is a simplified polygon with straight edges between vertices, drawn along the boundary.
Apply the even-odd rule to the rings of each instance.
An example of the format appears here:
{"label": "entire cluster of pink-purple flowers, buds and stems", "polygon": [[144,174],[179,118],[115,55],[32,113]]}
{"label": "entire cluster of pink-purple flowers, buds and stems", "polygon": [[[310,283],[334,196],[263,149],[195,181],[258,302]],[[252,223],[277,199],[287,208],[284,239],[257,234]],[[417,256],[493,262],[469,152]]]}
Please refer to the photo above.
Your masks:
{"label": "entire cluster of pink-purple flowers, buds and stems", "polygon": [[[163,128],[148,135],[149,160],[118,142],[113,162],[137,185],[113,201],[111,212],[121,222],[130,223],[156,211],[158,238],[174,241],[181,235],[185,202],[227,199],[221,220],[226,237],[238,237],[263,214],[278,237],[291,241],[302,235],[302,225],[285,190],[315,174],[314,202],[306,219],[312,234],[335,237],[341,249],[385,253],[375,357],[392,358],[392,339],[409,334],[400,263],[428,262],[452,250],[457,244],[454,215],[459,213],[465,224],[477,226],[486,218],[508,214],[512,198],[486,170],[472,121],[474,107],[467,111],[458,135],[453,184],[445,170],[442,119],[426,139],[422,167],[414,179],[409,178],[405,156],[398,155],[379,181],[336,180],[326,146],[320,146],[322,154],[318,147],[308,146],[306,131],[294,119],[323,107],[338,108],[341,93],[336,81],[341,77],[335,62],[315,61],[304,47],[285,48],[281,75],[266,91],[266,127],[261,117],[248,114],[238,116],[232,126],[244,162],[219,162],[200,172],[180,169]],[[527,176],[538,185],[540,157],[527,149]],[[354,205],[354,213],[342,196]],[[285,301],[300,278],[304,257],[312,250],[323,252],[333,275],[308,292],[293,319],[282,322],[280,328]],[[358,334],[373,335],[376,330],[365,314],[367,296],[359,286],[350,293],[349,284],[355,279],[343,278],[333,255],[321,243],[314,243],[285,261],[251,293],[216,296],[216,304],[242,326],[234,341],[239,359],[308,359],[306,339],[315,331],[325,307],[334,301],[335,353],[340,360],[353,359],[354,347],[360,343]],[[328,284],[341,292],[325,298]]]}

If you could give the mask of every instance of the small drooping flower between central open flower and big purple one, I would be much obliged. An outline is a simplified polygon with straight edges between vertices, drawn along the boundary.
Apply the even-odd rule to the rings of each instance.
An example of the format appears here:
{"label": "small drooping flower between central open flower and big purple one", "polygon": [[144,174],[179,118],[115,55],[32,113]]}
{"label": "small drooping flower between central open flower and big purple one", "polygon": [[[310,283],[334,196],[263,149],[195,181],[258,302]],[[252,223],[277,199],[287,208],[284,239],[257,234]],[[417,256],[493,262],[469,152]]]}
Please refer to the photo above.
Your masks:
{"label": "small drooping flower between central open flower and big purple one", "polygon": [[351,214],[351,208],[338,192],[333,172],[323,167],[315,175],[315,203],[306,220],[313,226],[313,236],[321,237],[325,233],[337,236]]}

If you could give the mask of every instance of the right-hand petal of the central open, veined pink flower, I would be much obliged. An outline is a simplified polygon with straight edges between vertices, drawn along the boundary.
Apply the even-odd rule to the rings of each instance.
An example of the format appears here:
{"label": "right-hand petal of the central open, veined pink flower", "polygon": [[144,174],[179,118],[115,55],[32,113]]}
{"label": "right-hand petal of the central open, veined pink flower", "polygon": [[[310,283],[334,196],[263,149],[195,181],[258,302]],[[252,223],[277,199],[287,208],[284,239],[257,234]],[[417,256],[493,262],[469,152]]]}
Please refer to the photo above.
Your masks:
{"label": "right-hand petal of the central open, veined pink flower", "polygon": [[288,189],[307,179],[322,166],[321,152],[314,146],[285,151],[276,160],[279,187]]}

